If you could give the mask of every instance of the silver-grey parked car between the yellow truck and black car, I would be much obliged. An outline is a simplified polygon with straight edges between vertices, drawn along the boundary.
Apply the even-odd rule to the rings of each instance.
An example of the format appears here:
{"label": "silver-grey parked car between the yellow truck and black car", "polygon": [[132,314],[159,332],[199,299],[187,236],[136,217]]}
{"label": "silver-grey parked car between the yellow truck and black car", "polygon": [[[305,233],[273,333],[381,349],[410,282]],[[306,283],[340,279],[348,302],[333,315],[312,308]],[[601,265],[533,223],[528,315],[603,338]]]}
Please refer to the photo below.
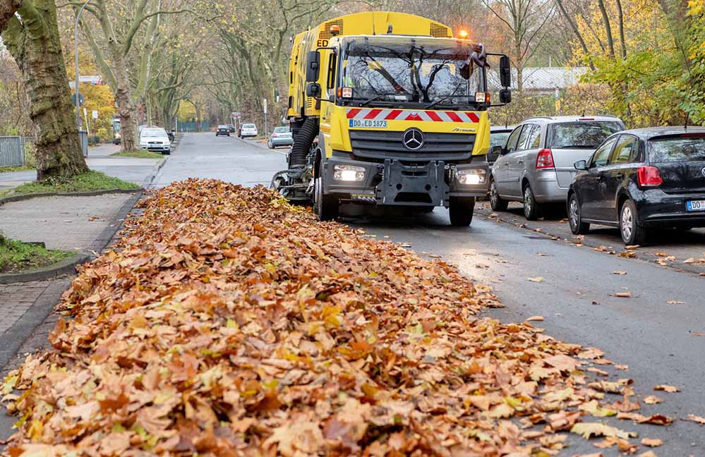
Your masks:
{"label": "silver-grey parked car between the yellow truck and black car", "polygon": [[490,173],[490,205],[505,211],[510,201],[524,202],[524,216],[543,215],[543,205],[565,205],[576,170],[603,140],[625,125],[613,116],[541,116],[514,128],[507,144],[493,147],[499,157]]}

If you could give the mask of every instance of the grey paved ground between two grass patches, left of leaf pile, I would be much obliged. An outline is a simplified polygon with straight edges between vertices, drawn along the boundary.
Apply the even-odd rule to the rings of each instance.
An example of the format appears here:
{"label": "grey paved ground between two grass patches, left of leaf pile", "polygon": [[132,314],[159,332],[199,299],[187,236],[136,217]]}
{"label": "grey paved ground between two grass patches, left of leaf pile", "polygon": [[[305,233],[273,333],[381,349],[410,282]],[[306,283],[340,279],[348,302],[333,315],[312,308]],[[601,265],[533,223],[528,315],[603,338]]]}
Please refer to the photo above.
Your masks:
{"label": "grey paved ground between two grass patches, left of leaf pile", "polygon": [[90,250],[131,197],[40,197],[6,203],[0,207],[0,231],[16,240],[43,241],[49,249]]}

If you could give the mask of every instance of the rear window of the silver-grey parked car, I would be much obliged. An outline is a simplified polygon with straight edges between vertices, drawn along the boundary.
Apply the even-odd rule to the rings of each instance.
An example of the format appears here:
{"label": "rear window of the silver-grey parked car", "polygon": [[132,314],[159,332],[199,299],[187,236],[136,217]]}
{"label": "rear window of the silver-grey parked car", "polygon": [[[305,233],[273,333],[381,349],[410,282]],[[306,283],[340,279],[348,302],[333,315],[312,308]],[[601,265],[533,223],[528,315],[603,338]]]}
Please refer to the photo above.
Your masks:
{"label": "rear window of the silver-grey parked car", "polygon": [[546,145],[553,149],[594,149],[608,136],[624,130],[617,121],[577,121],[551,124]]}

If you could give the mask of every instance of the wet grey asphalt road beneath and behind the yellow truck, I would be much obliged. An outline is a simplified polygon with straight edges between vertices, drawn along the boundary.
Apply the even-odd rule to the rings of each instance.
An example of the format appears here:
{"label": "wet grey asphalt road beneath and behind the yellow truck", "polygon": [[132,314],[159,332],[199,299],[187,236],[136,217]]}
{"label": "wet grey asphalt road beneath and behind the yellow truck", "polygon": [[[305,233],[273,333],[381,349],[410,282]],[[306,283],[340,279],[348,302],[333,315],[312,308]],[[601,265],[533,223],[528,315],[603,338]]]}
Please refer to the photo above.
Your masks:
{"label": "wet grey asphalt road beneath and behind the yellow truck", "polygon": [[[272,174],[285,167],[283,152],[251,140],[216,138],[213,133],[186,135],[153,185],[191,176],[267,185]],[[634,379],[637,398],[656,394],[664,399],[653,406],[642,402],[639,413],[661,413],[675,422],[670,427],[613,418],[605,422],[639,432],[639,439],[632,439],[637,444],[643,437],[663,439],[663,446],[654,449],[658,456],[705,456],[705,428],[682,420],[689,413],[705,416],[705,277],[551,240],[481,213],[464,229],[451,227],[442,208],[414,217],[344,222],[379,239],[410,243],[421,255],[440,255],[469,278],[493,286],[506,307],[487,310],[486,315],[503,322],[542,315],[546,320],[536,324],[547,334],[596,346],[605,351],[605,358],[629,365],[627,371],[599,367],[615,377]],[[529,281],[536,277],[543,280]],[[633,297],[614,296],[619,292],[631,292]],[[672,384],[680,392],[653,391],[657,384]],[[613,397],[611,401],[620,399]],[[600,451],[593,441],[573,435],[570,448],[560,455]],[[639,453],[646,450],[640,446]],[[602,452],[618,455],[616,449]]]}

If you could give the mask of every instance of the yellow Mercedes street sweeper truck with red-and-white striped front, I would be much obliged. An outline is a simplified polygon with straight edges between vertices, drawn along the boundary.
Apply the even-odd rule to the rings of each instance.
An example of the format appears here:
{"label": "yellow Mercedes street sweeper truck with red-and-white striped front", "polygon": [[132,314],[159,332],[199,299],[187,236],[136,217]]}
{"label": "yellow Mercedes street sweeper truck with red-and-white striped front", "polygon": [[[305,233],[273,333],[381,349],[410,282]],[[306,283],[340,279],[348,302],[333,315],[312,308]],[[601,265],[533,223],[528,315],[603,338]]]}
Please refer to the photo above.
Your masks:
{"label": "yellow Mercedes street sweeper truck with red-and-white striped front", "polygon": [[289,166],[311,171],[319,217],[337,217],[345,203],[443,206],[452,224],[469,225],[489,177],[486,56],[450,28],[402,13],[344,16],[297,37]]}

